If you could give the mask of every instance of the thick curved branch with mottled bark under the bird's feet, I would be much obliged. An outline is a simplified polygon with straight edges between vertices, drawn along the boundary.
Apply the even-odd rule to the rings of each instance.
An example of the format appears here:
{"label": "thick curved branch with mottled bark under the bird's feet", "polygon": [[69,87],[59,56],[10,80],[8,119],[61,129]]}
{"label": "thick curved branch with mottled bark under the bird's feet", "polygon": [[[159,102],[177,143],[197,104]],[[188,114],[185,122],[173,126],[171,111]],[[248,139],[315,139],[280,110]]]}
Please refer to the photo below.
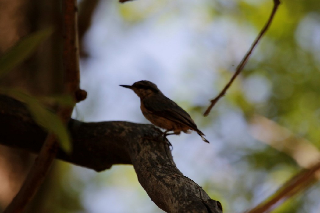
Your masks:
{"label": "thick curved branch with mottled bark under the bird's feet", "polygon": [[[46,133],[33,122],[24,105],[0,95],[1,144],[37,153]],[[222,212],[220,202],[176,168],[170,149],[153,125],[130,122],[69,122],[70,155],[57,158],[96,171],[113,164],[133,164],[141,186],[166,212]],[[160,137],[159,137],[160,136]]]}

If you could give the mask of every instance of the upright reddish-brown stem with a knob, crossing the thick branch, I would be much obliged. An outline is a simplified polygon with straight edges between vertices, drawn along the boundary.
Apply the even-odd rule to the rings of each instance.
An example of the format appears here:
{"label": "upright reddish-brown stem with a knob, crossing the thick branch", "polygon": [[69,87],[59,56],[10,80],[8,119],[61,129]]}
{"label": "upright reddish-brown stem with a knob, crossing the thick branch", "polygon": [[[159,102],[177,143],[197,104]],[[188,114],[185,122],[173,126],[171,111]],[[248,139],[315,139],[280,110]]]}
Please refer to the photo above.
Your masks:
{"label": "upright reddish-brown stem with a knob, crossing the thick branch", "polygon": [[[64,89],[63,94],[72,95],[76,101],[84,98],[78,97],[83,93],[79,89],[79,53],[77,39],[77,1],[62,1],[63,21],[64,21],[64,47],[63,47],[63,64],[64,64]],[[74,106],[58,108],[57,115],[67,124],[71,117]],[[57,154],[58,143],[53,133],[48,133],[44,145],[36,158],[31,170],[28,173],[18,194],[14,197],[4,213],[22,212],[31,199],[35,196],[37,190],[43,183],[45,176],[50,170],[52,162]]]}

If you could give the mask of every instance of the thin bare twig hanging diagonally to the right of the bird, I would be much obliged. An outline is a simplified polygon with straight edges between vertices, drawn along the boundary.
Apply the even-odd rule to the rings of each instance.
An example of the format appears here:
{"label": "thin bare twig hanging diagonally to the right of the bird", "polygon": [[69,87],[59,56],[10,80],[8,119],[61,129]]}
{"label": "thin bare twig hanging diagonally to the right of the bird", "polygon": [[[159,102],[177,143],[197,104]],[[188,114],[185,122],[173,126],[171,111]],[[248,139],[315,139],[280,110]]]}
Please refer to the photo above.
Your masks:
{"label": "thin bare twig hanging diagonally to the right of the bird", "polygon": [[260,41],[261,37],[267,32],[268,28],[270,27],[271,25],[271,22],[273,20],[273,17],[275,16],[276,14],[276,11],[277,11],[277,8],[280,4],[280,1],[279,0],[273,0],[274,2],[274,5],[273,5],[273,9],[272,9],[272,12],[271,12],[271,15],[266,23],[266,25],[262,28],[262,30],[260,31],[258,37],[256,38],[256,40],[252,43],[249,51],[247,52],[247,54],[244,56],[244,58],[242,59],[242,61],[240,62],[240,64],[237,66],[237,69],[236,69],[236,72],[235,74],[232,76],[232,78],[230,79],[230,81],[228,82],[228,84],[223,88],[223,90],[220,92],[220,94],[212,99],[210,102],[210,106],[208,107],[208,109],[204,112],[204,116],[207,116],[209,115],[212,107],[219,101],[219,99],[224,96],[226,94],[226,91],[228,90],[228,88],[231,86],[232,82],[236,79],[236,77],[239,75],[239,73],[243,70],[244,68],[244,65],[247,63],[253,49],[255,48],[255,46],[258,44],[258,42]]}

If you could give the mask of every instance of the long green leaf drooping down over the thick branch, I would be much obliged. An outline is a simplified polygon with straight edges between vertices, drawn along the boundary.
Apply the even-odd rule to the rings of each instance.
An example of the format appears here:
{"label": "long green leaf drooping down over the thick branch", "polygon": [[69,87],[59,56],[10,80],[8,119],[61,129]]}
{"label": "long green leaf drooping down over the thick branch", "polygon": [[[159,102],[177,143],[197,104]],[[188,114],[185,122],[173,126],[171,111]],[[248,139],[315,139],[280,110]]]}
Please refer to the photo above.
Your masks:
{"label": "long green leaf drooping down over the thick branch", "polygon": [[68,153],[71,152],[72,147],[67,127],[56,114],[48,110],[37,98],[19,90],[0,88],[0,92],[25,103],[36,123],[48,132],[53,132],[57,136],[60,147]]}

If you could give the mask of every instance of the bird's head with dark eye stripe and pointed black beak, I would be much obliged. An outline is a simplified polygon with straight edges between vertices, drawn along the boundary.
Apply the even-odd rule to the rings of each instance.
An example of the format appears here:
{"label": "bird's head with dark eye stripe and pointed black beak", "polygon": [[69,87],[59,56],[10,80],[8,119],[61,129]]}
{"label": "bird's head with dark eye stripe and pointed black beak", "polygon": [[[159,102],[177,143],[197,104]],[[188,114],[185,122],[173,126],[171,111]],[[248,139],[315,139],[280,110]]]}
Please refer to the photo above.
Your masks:
{"label": "bird's head with dark eye stripe and pointed black beak", "polygon": [[132,85],[120,85],[121,87],[132,89],[140,98],[161,93],[157,85],[148,80],[140,80]]}

